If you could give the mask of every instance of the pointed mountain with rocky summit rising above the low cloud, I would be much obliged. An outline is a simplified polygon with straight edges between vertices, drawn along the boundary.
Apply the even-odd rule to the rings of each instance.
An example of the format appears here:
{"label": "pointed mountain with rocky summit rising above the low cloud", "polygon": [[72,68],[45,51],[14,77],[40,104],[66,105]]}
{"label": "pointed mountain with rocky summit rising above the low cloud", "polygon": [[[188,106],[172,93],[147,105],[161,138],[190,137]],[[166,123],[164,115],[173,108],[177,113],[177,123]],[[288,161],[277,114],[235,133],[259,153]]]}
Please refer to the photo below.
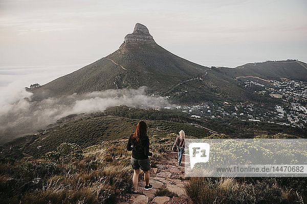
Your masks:
{"label": "pointed mountain with rocky summit rising above the low cloud", "polygon": [[232,70],[211,69],[168,52],[145,25],[137,23],[114,53],[30,91],[32,100],[41,100],[146,86],[148,94],[168,96],[178,104],[254,100],[255,94],[241,86],[235,75]]}

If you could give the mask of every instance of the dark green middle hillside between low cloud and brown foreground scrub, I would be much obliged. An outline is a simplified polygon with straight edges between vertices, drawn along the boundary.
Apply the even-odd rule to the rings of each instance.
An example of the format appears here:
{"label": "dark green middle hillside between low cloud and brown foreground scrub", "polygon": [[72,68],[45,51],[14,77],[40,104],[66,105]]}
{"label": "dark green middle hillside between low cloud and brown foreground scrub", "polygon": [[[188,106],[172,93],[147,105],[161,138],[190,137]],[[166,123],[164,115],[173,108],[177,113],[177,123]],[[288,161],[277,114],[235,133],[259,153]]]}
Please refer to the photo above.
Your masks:
{"label": "dark green middle hillside between low cloud and brown foreground scrub", "polygon": [[148,125],[148,135],[166,136],[184,130],[187,135],[202,138],[210,135],[205,129],[186,123],[196,123],[232,138],[253,138],[257,135],[272,135],[279,132],[305,138],[307,131],[297,127],[266,122],[241,121],[238,119],[195,119],[186,114],[167,110],[143,110],[126,106],[110,107],[104,112],[76,116],[75,119],[57,124],[37,135],[17,138],[1,147],[0,158],[8,155],[22,158],[24,155],[40,157],[63,142],[77,143],[82,148],[103,141],[128,138],[140,120]]}

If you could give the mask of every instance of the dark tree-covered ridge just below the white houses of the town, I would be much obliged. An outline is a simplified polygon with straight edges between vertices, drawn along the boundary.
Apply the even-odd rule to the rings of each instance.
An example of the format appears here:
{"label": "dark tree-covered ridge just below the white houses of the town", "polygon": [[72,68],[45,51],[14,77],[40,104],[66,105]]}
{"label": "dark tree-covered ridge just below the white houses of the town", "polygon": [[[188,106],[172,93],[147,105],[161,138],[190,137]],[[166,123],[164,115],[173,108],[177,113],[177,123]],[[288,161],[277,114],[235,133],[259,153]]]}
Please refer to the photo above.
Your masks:
{"label": "dark tree-covered ridge just below the white houses of the town", "polygon": [[116,106],[107,108],[104,113],[107,115],[127,118],[167,120],[180,123],[196,123],[218,133],[227,134],[232,138],[253,138],[257,135],[273,135],[280,132],[301,138],[306,138],[307,135],[306,129],[288,125],[279,125],[268,122],[252,122],[248,120],[242,121],[236,118],[195,119],[189,117],[187,114],[183,114],[182,112],[167,110],[144,110],[129,108],[126,106]]}

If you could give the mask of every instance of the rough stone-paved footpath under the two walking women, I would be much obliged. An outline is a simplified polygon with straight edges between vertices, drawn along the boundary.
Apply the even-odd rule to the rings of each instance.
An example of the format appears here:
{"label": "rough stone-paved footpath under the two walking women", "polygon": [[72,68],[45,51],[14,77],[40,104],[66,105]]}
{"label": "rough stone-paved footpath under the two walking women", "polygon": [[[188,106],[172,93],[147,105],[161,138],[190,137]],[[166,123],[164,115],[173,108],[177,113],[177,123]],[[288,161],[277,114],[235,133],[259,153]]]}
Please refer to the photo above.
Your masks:
{"label": "rough stone-paved footpath under the two walking women", "polygon": [[[185,156],[183,156],[185,157]],[[157,203],[157,204],[174,204],[174,203],[191,203],[184,190],[184,185],[188,181],[184,181],[184,162],[182,166],[178,166],[177,152],[168,151],[168,159],[162,160],[156,165],[156,168],[150,169],[150,184],[152,189],[144,190],[145,182],[142,178],[139,181],[138,194],[129,194],[127,200],[121,202],[122,204],[144,204],[144,203]],[[184,161],[184,158],[182,159]],[[169,198],[166,196],[155,197],[155,192],[158,188],[166,188],[174,192],[178,197]]]}

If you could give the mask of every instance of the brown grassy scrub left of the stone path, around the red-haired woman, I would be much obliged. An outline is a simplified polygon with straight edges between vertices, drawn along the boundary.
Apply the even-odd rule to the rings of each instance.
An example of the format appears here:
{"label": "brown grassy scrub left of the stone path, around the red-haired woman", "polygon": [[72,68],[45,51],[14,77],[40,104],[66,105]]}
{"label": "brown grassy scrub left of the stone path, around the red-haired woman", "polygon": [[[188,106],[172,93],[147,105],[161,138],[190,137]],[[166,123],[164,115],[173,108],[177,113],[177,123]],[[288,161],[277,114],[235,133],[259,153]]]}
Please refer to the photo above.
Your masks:
{"label": "brown grassy scrub left of the stone path, around the red-haired woman", "polygon": [[[176,136],[150,136],[151,166],[166,157],[165,150]],[[0,202],[116,203],[133,187],[131,152],[126,150],[126,142],[126,139],[102,142],[84,149],[82,158],[56,160],[57,163],[50,159],[50,154],[46,159],[1,160]],[[71,146],[80,154],[80,147],[70,143],[61,144],[55,152],[62,154],[65,147]]]}

